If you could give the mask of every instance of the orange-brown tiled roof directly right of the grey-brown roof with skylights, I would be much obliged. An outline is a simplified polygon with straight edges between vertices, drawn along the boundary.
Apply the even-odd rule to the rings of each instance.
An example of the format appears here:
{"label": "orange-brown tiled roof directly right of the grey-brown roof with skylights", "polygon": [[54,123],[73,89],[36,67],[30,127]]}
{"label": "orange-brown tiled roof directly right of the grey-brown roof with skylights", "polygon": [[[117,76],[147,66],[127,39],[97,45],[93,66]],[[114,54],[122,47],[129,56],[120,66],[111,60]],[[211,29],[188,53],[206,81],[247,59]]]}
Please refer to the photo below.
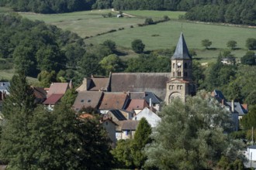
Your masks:
{"label": "orange-brown tiled roof directly right of the grey-brown roof with skylights", "polygon": [[128,100],[127,93],[104,92],[102,103],[99,106],[101,110],[123,109]]}

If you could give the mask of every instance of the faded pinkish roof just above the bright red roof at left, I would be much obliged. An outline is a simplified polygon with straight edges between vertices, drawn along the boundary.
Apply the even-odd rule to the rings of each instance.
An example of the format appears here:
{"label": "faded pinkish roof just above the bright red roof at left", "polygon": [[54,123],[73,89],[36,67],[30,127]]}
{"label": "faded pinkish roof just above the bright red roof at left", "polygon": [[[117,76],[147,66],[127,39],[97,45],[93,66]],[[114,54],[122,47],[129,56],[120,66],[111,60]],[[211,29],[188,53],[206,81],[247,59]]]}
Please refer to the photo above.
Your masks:
{"label": "faded pinkish roof just above the bright red roof at left", "polygon": [[52,94],[64,94],[66,93],[68,88],[69,88],[68,83],[52,83],[50,84],[47,97],[50,97]]}

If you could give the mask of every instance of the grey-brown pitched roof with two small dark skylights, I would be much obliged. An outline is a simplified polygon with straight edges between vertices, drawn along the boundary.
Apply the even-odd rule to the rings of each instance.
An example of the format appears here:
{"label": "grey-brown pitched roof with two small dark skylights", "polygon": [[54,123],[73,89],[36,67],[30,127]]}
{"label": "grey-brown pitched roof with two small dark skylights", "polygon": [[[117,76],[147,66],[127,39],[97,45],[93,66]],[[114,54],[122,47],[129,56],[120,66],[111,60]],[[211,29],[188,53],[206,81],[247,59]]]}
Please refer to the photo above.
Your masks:
{"label": "grey-brown pitched roof with two small dark skylights", "polygon": [[102,98],[102,91],[79,91],[74,100],[74,110],[80,110],[82,107],[99,107],[99,101]]}

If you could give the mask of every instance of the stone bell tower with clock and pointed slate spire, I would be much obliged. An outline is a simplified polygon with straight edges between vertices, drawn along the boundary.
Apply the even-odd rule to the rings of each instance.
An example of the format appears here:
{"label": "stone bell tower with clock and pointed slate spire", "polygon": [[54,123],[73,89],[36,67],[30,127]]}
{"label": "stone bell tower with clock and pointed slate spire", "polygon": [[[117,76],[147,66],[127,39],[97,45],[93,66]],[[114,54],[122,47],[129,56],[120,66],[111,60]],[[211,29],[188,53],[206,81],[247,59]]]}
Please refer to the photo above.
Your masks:
{"label": "stone bell tower with clock and pointed slate spire", "polygon": [[185,43],[183,33],[178,39],[175,54],[171,57],[171,80],[166,84],[166,104],[179,97],[185,102],[186,95],[195,95],[195,84],[192,82],[192,56]]}

